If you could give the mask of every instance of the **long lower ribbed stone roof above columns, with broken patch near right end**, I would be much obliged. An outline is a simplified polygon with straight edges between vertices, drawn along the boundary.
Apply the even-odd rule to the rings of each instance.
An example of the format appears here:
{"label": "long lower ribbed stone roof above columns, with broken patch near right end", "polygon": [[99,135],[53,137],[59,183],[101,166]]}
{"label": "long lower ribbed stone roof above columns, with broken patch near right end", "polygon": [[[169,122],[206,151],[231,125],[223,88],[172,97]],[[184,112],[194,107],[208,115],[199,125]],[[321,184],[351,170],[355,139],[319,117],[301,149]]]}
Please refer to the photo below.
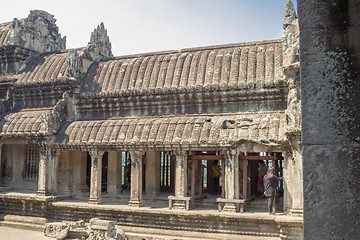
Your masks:
{"label": "long lower ribbed stone roof above columns, with broken patch near right end", "polygon": [[283,112],[134,117],[65,124],[54,144],[123,147],[226,146],[285,141]]}

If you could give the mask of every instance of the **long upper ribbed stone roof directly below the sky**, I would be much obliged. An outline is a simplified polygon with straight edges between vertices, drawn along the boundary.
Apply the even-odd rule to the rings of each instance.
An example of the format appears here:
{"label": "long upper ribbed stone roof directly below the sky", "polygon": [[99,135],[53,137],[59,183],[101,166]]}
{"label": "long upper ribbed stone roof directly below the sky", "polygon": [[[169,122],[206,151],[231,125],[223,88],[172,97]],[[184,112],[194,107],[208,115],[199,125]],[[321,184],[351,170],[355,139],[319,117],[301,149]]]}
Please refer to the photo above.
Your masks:
{"label": "long upper ribbed stone roof directly below the sky", "polygon": [[281,85],[280,41],[123,56],[93,64],[82,92],[163,93]]}

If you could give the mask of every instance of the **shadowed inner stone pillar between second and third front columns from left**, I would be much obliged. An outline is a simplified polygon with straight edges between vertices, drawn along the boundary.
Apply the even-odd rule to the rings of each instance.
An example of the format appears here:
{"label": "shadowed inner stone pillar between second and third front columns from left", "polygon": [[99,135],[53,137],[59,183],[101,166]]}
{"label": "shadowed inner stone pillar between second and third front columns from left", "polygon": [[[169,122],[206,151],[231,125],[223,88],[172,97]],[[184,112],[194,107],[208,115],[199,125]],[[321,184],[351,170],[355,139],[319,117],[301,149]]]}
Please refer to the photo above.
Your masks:
{"label": "shadowed inner stone pillar between second and third front columns from left", "polygon": [[109,152],[108,159],[108,196],[115,198],[121,193],[121,152]]}

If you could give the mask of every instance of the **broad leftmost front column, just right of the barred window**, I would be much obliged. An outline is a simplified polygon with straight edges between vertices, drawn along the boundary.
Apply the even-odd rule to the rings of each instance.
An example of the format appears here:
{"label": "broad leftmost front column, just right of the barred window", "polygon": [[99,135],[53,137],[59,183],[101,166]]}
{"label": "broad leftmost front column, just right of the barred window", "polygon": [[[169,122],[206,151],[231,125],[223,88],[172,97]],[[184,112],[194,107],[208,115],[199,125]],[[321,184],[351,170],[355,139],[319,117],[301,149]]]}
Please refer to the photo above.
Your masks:
{"label": "broad leftmost front column, just right of the barred window", "polygon": [[60,152],[52,150],[45,144],[40,144],[39,154],[40,159],[37,195],[56,195],[57,169]]}

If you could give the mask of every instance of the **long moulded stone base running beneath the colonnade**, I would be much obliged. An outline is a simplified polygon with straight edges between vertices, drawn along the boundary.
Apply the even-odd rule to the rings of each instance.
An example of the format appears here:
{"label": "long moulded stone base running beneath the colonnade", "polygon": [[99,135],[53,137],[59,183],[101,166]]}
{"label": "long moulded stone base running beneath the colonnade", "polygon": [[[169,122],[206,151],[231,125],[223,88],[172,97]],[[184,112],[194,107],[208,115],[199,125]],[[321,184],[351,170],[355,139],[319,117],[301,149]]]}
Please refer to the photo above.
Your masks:
{"label": "long moulded stone base running beneath the colonnade", "polygon": [[[294,218],[287,216],[219,213],[216,205],[210,209],[211,211],[207,211],[209,210],[207,207],[203,210],[197,208],[200,211],[180,211],[169,210],[167,207],[159,209],[112,207],[111,204],[90,205],[77,201],[43,203],[34,202],[32,199],[6,200],[0,201],[0,211],[3,214],[0,217],[0,225],[37,231],[43,231],[47,221],[88,221],[95,217],[114,221],[120,229],[138,236],[141,234],[167,235],[167,237],[173,237],[172,239],[177,239],[177,236],[191,239],[193,234],[198,233],[206,239],[247,239],[245,237],[274,239],[279,238],[280,234],[290,237],[302,231],[300,218],[294,222]],[[214,204],[211,198],[203,202]],[[27,216],[29,214],[32,216]],[[149,239],[151,239],[150,236]]]}

